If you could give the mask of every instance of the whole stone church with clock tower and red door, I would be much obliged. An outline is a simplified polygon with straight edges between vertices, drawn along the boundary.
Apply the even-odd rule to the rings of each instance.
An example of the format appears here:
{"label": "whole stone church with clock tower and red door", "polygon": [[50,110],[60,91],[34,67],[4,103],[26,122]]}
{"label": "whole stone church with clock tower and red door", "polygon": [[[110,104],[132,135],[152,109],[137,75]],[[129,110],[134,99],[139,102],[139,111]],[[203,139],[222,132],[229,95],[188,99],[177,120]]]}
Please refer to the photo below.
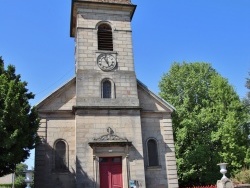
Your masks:
{"label": "whole stone church with clock tower and red door", "polygon": [[36,188],[177,188],[174,107],[135,74],[131,0],[72,0],[75,77],[37,105]]}

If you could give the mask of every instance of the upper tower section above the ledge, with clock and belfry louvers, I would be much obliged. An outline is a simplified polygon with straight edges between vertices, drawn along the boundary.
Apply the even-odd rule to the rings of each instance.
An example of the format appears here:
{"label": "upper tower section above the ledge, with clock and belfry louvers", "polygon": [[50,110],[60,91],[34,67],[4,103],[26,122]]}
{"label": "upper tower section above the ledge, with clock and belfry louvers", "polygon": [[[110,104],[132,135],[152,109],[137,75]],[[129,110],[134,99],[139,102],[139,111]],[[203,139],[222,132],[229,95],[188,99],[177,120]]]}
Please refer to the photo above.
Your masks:
{"label": "upper tower section above the ledge, with clock and belfry louvers", "polygon": [[72,1],[76,108],[138,107],[130,0]]}

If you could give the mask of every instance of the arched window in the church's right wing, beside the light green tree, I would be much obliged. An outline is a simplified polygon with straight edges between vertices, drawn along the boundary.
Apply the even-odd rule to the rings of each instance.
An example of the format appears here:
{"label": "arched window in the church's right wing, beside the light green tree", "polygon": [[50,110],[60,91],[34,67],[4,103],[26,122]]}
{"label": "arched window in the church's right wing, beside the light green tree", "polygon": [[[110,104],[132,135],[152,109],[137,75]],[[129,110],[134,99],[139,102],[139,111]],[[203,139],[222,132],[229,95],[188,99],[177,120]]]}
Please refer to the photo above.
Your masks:
{"label": "arched window in the church's right wing, beside the light green tree", "polygon": [[158,147],[155,139],[147,141],[148,166],[159,166]]}

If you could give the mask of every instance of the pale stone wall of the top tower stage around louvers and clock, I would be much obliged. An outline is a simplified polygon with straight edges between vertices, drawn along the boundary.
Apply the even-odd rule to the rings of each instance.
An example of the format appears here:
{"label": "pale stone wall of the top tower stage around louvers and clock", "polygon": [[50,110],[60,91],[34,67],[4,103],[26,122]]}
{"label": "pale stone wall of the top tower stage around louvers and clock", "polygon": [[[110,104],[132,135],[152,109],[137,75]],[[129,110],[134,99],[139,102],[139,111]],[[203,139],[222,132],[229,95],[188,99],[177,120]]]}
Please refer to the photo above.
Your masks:
{"label": "pale stone wall of the top tower stage around louvers and clock", "polygon": [[101,53],[97,49],[97,29],[101,22],[110,24],[113,30],[114,51],[119,63],[118,70],[134,71],[132,31],[129,13],[115,10],[79,9],[77,15],[76,59],[77,68],[99,70],[96,62]]}

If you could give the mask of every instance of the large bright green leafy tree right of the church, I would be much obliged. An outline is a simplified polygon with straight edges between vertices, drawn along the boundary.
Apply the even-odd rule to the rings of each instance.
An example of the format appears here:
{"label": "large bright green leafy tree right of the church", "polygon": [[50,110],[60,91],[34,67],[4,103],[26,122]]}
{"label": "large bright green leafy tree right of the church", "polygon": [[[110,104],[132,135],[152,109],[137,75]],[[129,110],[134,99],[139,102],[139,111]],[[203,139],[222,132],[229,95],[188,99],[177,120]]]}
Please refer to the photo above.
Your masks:
{"label": "large bright green leafy tree right of the church", "polygon": [[173,130],[180,185],[215,184],[221,178],[219,162],[229,163],[231,173],[245,165],[245,108],[210,64],[174,63],[159,87],[160,96],[176,108]]}

